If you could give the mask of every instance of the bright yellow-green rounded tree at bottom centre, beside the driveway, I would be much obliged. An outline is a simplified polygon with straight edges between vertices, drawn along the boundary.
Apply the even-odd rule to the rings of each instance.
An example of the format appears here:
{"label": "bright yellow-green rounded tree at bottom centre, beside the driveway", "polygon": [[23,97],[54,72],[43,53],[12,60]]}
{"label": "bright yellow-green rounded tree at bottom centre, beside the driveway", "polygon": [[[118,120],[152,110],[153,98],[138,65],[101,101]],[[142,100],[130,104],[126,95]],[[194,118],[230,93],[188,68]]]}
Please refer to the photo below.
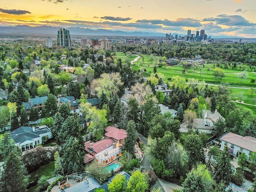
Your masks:
{"label": "bright yellow-green rounded tree at bottom centre, beside the driveway", "polygon": [[148,190],[146,174],[136,170],[127,183],[127,190],[132,192],[145,192]]}

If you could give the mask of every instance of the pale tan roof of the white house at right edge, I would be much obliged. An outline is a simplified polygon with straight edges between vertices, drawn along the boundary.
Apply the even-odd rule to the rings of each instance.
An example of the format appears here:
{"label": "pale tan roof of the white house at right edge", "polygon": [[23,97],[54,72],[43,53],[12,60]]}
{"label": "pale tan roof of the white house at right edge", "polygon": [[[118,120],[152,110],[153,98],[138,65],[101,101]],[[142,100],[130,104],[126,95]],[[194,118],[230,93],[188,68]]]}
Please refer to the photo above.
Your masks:
{"label": "pale tan roof of the white house at right edge", "polygon": [[229,132],[224,135],[221,140],[226,141],[228,143],[234,144],[238,147],[247,149],[252,152],[256,152],[256,138],[250,136],[240,136],[238,134],[234,134]]}

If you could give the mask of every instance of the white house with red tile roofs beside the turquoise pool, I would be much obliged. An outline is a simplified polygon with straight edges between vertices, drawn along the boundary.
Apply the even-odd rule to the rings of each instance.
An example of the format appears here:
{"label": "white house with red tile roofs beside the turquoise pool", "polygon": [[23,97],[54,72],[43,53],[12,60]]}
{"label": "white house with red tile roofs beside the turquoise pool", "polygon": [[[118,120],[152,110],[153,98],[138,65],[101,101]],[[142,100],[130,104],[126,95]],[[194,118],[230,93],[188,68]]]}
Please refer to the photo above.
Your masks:
{"label": "white house with red tile roofs beside the turquoise pool", "polygon": [[105,129],[105,138],[92,142],[91,140],[84,143],[86,154],[84,163],[90,163],[93,160],[99,165],[112,164],[122,155],[122,145],[126,138],[126,130],[108,126]]}

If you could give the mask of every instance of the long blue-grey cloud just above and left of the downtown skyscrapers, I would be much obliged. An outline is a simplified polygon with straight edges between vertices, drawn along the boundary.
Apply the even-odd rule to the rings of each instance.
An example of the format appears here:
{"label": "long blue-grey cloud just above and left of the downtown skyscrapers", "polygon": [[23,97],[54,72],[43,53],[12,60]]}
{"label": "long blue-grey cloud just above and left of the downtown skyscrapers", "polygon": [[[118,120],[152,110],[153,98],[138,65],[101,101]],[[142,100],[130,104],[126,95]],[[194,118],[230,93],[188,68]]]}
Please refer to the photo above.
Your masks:
{"label": "long blue-grey cloud just above and left of the downtown skyscrapers", "polygon": [[137,20],[136,22],[142,22],[142,23],[149,23],[149,24],[157,24],[157,25],[164,25],[164,26],[186,26],[186,27],[201,27],[202,24],[195,19],[191,18],[178,18],[176,21],[170,21],[170,20]]}

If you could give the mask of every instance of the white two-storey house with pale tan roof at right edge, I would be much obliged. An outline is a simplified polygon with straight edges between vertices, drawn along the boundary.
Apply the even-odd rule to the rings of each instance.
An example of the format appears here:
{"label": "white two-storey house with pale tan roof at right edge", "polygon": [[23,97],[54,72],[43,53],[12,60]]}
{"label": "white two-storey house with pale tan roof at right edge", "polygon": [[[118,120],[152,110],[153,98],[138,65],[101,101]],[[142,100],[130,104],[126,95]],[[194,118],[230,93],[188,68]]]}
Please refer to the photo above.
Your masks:
{"label": "white two-storey house with pale tan roof at right edge", "polygon": [[238,157],[241,153],[244,153],[249,158],[248,160],[250,160],[251,153],[256,152],[256,138],[254,137],[244,137],[229,132],[228,134],[222,136],[220,140],[220,149],[224,150],[224,146],[228,146],[230,148],[230,152],[232,152],[234,156]]}

